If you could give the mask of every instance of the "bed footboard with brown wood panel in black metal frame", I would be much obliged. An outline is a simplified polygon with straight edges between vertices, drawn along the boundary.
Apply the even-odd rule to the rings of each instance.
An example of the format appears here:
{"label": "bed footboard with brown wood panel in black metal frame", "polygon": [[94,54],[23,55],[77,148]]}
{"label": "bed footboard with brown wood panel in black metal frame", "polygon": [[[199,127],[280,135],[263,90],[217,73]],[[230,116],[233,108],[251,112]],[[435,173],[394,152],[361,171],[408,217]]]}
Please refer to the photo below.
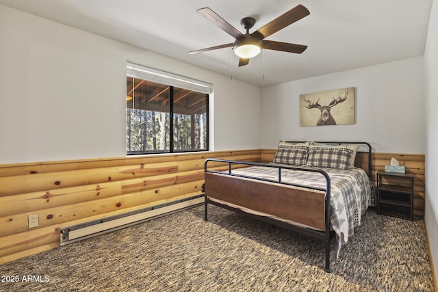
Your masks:
{"label": "bed footboard with brown wood panel in black metal frame", "polygon": [[[222,167],[209,168],[208,163],[214,166],[222,165]],[[227,166],[224,168],[223,165]],[[252,178],[232,173],[233,167],[241,168],[250,165],[277,168],[279,174],[277,180]],[[326,178],[326,188],[320,189],[283,183],[281,181],[282,169],[320,172]],[[322,170],[207,159],[205,161],[205,220],[207,220],[207,204],[215,204],[325,241],[326,262],[324,269],[330,272],[330,185],[329,175]],[[282,220],[274,220],[270,216],[244,212],[242,208],[231,207],[231,204],[222,204],[215,201],[215,199],[244,209],[272,215]],[[285,220],[300,225],[290,224]]]}

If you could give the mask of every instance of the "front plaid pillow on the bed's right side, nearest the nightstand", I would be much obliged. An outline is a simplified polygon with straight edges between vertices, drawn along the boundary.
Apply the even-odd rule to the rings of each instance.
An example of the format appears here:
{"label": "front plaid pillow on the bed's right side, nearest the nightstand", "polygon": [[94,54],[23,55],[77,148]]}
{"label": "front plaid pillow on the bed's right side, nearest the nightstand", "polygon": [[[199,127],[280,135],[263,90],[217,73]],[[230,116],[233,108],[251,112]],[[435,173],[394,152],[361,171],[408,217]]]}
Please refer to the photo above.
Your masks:
{"label": "front plaid pillow on the bed's right side, nearest the nightstand", "polygon": [[337,168],[339,170],[349,170],[351,168],[351,158],[354,150],[348,147],[309,147],[309,157],[306,166],[315,168]]}

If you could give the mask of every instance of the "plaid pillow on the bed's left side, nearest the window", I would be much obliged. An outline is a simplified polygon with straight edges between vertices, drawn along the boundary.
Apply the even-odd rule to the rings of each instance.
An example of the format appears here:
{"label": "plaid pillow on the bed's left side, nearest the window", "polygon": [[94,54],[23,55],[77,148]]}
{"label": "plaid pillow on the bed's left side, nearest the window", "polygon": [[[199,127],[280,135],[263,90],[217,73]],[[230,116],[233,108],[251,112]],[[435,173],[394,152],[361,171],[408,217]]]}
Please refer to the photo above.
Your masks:
{"label": "plaid pillow on the bed's left side, nearest the window", "polygon": [[292,144],[280,141],[274,155],[273,163],[289,165],[305,165],[307,161],[308,143]]}

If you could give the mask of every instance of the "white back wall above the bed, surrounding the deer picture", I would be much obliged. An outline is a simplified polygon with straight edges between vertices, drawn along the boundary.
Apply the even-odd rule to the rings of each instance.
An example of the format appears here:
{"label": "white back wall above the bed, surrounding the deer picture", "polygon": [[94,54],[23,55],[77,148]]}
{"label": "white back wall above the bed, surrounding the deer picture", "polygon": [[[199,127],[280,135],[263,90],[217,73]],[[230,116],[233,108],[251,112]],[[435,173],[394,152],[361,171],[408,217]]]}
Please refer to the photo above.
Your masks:
{"label": "white back wall above the bed, surrounding the deer picture", "polygon": [[[424,153],[423,80],[423,57],[414,57],[263,88],[261,148],[279,140],[355,140],[377,152]],[[300,94],[349,87],[355,124],[300,127]]]}

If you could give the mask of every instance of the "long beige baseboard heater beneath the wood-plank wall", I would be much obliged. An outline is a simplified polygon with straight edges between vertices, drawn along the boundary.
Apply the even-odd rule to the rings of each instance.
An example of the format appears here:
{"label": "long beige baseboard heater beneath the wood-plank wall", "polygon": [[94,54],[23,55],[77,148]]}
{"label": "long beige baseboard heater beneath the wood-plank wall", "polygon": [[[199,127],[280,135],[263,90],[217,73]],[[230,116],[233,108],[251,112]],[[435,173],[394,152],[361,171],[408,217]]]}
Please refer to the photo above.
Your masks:
{"label": "long beige baseboard heater beneath the wood-plank wall", "polygon": [[204,202],[205,198],[202,194],[190,198],[166,202],[165,204],[159,204],[153,207],[114,215],[111,217],[105,217],[101,220],[94,220],[73,226],[62,227],[60,235],[61,245],[66,245],[68,243],[73,243],[79,240],[94,237],[96,235],[109,233],[114,230],[132,226],[134,224],[140,224],[142,222],[153,220],[157,217],[162,217],[170,213],[181,211],[182,209],[196,207]]}

